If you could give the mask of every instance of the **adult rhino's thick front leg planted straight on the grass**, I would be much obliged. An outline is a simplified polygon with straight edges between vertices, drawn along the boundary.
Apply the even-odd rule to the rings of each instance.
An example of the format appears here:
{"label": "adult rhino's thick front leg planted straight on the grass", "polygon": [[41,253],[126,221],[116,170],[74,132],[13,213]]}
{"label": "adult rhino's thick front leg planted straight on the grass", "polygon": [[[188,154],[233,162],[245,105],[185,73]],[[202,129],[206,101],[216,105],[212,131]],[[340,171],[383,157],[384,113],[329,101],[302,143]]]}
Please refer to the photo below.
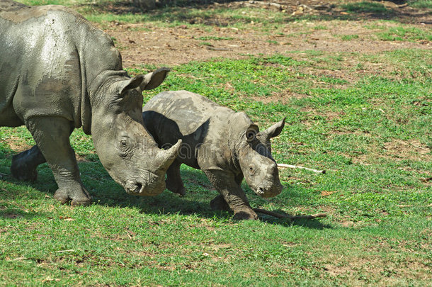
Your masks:
{"label": "adult rhino's thick front leg planted straight on the grass", "polygon": [[27,128],[47,160],[58,189],[54,198],[71,205],[88,205],[91,196],[81,183],[75,152],[69,142],[71,124],[64,118],[31,118]]}

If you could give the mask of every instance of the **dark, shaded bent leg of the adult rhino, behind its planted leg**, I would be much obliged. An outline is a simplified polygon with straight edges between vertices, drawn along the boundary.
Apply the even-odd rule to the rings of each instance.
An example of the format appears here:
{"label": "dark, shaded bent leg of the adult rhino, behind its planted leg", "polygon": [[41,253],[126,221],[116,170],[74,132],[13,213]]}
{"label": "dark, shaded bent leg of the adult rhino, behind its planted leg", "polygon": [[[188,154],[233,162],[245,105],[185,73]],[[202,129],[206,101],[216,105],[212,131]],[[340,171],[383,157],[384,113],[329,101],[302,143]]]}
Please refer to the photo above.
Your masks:
{"label": "dark, shaded bent leg of the adult rhino, behind its planted leg", "polygon": [[38,179],[36,168],[44,162],[46,162],[45,157],[35,145],[30,150],[25,150],[12,157],[11,173],[13,177],[21,181],[36,181]]}

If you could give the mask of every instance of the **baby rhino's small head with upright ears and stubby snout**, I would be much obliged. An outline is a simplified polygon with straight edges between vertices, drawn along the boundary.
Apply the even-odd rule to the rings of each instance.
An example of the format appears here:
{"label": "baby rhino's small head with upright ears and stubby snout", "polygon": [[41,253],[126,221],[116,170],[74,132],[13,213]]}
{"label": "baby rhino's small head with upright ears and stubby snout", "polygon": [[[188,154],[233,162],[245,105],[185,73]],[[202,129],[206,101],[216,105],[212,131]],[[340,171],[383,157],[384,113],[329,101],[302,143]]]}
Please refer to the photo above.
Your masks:
{"label": "baby rhino's small head with upright ears and stubby snout", "polygon": [[[246,119],[246,123],[249,122],[247,125],[239,125],[242,130],[240,144],[237,145],[237,159],[244,179],[258,196],[263,198],[277,196],[283,186],[279,180],[278,165],[271,155],[270,139],[282,132],[285,118],[260,132],[258,126],[245,114],[237,114]],[[241,123],[241,120],[237,120],[237,123]]]}

